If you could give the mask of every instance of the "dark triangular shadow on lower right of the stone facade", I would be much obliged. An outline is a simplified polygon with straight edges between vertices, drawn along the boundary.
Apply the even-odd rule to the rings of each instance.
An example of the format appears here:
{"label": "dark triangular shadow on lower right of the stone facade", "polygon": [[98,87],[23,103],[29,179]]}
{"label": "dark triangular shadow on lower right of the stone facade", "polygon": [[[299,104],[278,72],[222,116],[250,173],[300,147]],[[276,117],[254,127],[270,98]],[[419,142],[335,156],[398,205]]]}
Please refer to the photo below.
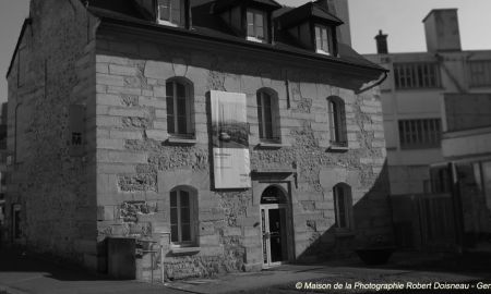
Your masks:
{"label": "dark triangular shadow on lower right of the stone facade", "polygon": [[[336,210],[336,206],[334,207]],[[335,211],[333,212],[336,213]],[[356,249],[394,246],[387,162],[370,191],[354,203],[349,229],[337,223],[316,238],[298,258],[299,262],[350,257]],[[348,249],[347,249],[348,248]]]}

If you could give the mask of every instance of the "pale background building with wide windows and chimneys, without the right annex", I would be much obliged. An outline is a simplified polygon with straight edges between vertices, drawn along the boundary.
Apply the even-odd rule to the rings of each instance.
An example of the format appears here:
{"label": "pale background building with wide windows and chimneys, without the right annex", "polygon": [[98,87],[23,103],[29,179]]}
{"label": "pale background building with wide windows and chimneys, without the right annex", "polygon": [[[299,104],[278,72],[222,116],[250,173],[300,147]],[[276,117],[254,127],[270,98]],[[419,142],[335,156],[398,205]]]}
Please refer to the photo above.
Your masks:
{"label": "pale background building with wide windows and chimneys, without the right annex", "polygon": [[366,56],[391,71],[381,90],[393,195],[430,192],[429,166],[443,161],[443,95],[491,91],[491,50],[462,50],[457,10],[432,10],[423,23],[426,52],[391,53],[380,32],[378,54]]}

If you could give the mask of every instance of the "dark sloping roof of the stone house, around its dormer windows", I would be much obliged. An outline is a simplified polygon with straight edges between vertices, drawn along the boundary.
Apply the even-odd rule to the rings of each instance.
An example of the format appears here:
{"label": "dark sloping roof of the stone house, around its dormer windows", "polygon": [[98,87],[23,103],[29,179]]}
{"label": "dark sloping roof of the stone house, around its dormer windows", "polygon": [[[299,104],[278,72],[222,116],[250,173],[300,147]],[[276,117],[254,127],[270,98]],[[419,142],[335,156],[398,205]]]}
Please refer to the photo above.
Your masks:
{"label": "dark sloping roof of the stone house, around its dormer windows", "polygon": [[[318,61],[324,62],[335,62],[342,64],[349,64],[358,68],[363,68],[367,70],[378,71],[380,73],[387,72],[384,68],[372,63],[371,61],[364,59],[362,56],[357,53],[352,48],[347,45],[338,44],[338,54],[339,57],[324,56],[313,52],[312,50],[307,50],[301,47],[301,45],[286,32],[275,32],[274,44],[260,44],[246,40],[243,37],[237,36],[232,29],[216,14],[214,14],[214,9],[216,1],[214,0],[191,0],[192,8],[192,29],[185,29],[180,27],[170,27],[165,25],[158,25],[155,21],[146,19],[141,10],[137,9],[136,3],[133,0],[81,0],[82,2],[88,3],[88,11],[95,16],[98,16],[104,22],[116,23],[120,25],[136,26],[156,32],[166,32],[187,35],[191,37],[231,42],[241,45],[244,47],[261,48],[264,50],[271,50],[278,53],[289,53],[296,54],[303,58],[309,58]],[[232,2],[233,0],[226,0]],[[252,1],[252,0],[251,0]],[[253,0],[259,2],[272,2],[272,0]],[[277,4],[277,3],[276,3]],[[297,14],[299,14],[297,16]],[[273,12],[273,17],[280,20],[282,17],[287,19],[291,16],[295,20],[299,20],[300,16],[313,16],[313,17],[324,17],[326,21],[332,21],[333,23],[343,23],[335,15],[328,13],[323,8],[308,3],[300,8],[288,8],[279,7]],[[290,21],[289,23],[291,23]],[[26,22],[24,26],[27,24]],[[24,30],[24,27],[23,27]],[[21,33],[20,39],[23,33]],[[13,58],[15,57],[16,50]],[[13,58],[11,66],[13,63]],[[10,69],[8,75],[10,73]]]}

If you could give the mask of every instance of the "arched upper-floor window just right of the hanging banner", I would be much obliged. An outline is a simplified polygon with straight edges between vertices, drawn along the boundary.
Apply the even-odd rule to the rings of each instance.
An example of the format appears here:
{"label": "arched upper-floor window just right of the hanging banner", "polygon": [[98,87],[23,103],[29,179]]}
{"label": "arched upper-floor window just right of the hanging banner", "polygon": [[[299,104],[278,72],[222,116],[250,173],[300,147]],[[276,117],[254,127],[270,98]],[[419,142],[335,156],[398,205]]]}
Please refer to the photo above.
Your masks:
{"label": "arched upper-floor window just right of the hanging banner", "polygon": [[276,100],[265,90],[258,91],[258,118],[260,138],[278,142]]}

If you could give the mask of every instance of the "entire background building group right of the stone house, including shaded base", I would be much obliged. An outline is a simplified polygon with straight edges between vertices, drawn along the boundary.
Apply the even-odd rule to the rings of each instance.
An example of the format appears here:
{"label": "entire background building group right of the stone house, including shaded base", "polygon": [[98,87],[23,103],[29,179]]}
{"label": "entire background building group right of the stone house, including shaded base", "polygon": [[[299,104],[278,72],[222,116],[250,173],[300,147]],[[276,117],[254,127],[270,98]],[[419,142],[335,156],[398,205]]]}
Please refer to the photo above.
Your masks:
{"label": "entire background building group right of the stone house, including shaded base", "polygon": [[465,249],[490,228],[491,50],[462,50],[456,9],[423,24],[426,52],[391,53],[380,32],[367,56],[391,71],[381,90],[396,240]]}

